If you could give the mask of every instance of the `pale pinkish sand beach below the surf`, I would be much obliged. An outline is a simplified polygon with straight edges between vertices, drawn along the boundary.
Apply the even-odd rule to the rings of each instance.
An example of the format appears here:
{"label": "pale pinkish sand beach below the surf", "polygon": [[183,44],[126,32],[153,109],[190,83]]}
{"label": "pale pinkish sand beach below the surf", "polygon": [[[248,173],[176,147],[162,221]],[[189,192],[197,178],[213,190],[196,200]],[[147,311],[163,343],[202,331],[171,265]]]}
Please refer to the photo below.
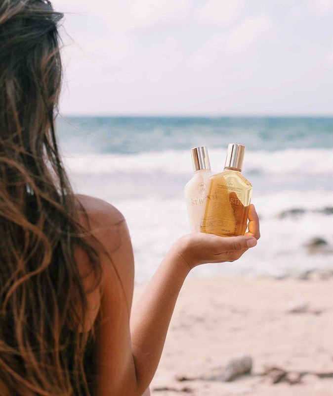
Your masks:
{"label": "pale pinkish sand beach below the surf", "polygon": [[[136,285],[134,299],[144,286]],[[333,395],[332,296],[333,279],[186,280],[152,396]],[[200,379],[244,354],[253,359],[251,374]],[[189,377],[198,379],[179,381]]]}

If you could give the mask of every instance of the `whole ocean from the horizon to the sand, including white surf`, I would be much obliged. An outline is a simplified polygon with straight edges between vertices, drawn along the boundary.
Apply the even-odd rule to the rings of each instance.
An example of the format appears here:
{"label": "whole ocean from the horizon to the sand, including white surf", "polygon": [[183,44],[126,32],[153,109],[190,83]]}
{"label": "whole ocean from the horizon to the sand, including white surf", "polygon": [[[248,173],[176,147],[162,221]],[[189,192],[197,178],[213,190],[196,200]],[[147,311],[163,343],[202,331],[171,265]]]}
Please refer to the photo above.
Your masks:
{"label": "whole ocean from the horizon to the sand, including white surf", "polygon": [[[68,117],[58,119],[75,192],[115,205],[134,249],[135,281],[147,281],[172,243],[189,232],[183,198],[193,175],[190,148],[207,146],[223,170],[228,143],[246,146],[243,175],[261,221],[256,248],[234,263],[190,276],[299,276],[333,269],[333,118]],[[327,242],[310,251],[314,238]]]}

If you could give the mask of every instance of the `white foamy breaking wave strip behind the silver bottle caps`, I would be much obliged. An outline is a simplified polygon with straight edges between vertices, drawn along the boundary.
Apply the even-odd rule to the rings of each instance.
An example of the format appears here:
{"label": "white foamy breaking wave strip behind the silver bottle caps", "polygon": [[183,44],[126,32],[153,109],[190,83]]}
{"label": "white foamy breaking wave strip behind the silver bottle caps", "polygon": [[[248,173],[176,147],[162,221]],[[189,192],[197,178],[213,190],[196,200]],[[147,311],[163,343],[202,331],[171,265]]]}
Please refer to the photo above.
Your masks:
{"label": "white foamy breaking wave strip behind the silver bottle caps", "polygon": [[[209,150],[213,172],[223,169],[226,151]],[[67,168],[81,175],[114,173],[190,174],[189,150],[148,151],[136,154],[86,154],[64,157]],[[333,173],[333,148],[246,151],[245,171],[275,175]]]}

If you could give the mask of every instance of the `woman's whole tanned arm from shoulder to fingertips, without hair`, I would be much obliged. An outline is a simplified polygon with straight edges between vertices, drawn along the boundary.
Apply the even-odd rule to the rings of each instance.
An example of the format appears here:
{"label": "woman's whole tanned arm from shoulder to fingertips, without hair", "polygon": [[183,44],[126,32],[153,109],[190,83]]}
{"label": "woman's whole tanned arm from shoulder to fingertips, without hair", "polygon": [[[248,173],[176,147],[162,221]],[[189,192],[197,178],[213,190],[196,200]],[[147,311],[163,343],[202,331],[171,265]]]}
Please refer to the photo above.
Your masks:
{"label": "woman's whole tanned arm from shoulder to fingertips, without hair", "polygon": [[[90,210],[88,215],[94,235],[112,259],[110,262],[101,253],[103,279],[96,322],[96,394],[141,396],[156,372],[174,305],[190,269],[204,262],[233,261],[247,250],[247,240],[252,238],[251,235],[221,238],[201,233],[181,238],[167,253],[130,315],[134,267],[128,230],[116,209],[96,201],[98,210]],[[255,211],[252,209],[250,213],[253,216],[250,230],[258,237]]]}

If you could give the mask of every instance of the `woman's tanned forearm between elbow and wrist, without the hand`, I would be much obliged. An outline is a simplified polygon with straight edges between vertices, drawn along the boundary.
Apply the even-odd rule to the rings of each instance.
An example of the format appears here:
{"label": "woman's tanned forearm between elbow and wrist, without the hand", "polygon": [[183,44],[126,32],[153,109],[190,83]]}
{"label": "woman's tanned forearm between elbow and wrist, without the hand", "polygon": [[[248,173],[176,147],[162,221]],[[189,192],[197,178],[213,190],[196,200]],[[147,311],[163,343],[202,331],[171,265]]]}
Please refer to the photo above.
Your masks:
{"label": "woman's tanned forearm between elbow and wrist, without the hand", "polygon": [[170,250],[133,307],[131,346],[141,390],[155,375],[173,308],[189,271],[182,258]]}

